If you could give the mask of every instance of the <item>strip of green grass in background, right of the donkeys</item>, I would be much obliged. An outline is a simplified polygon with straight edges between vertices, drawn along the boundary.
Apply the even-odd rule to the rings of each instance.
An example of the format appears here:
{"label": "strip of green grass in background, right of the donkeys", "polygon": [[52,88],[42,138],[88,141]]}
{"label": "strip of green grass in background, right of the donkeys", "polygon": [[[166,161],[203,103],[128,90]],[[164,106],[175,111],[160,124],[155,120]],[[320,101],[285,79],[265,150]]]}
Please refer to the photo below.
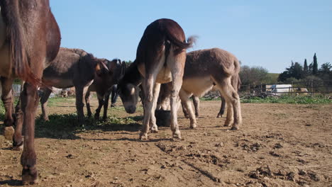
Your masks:
{"label": "strip of green grass in background, right of the donkeys", "polygon": [[323,104],[323,103],[332,103],[331,99],[328,99],[324,96],[281,96],[281,97],[251,97],[243,98],[241,103],[291,103],[291,104]]}

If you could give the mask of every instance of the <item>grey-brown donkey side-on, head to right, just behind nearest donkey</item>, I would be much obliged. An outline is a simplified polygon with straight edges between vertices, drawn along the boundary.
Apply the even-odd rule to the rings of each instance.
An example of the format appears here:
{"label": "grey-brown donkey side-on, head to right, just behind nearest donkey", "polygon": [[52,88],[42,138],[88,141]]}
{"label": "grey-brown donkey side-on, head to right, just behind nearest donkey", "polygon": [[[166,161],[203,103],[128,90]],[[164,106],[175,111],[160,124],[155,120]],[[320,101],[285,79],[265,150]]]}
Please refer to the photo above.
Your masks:
{"label": "grey-brown donkey side-on, head to right, just behind nearest donkey", "polygon": [[[117,70],[116,67],[112,68]],[[55,60],[43,72],[43,82],[48,87],[53,86],[58,89],[75,87],[77,117],[80,125],[84,123],[84,89],[87,91],[97,72],[109,72],[105,60],[99,60],[84,50],[65,47],[60,47]],[[111,73],[113,74],[113,72]],[[48,120],[47,102],[52,92],[48,87],[43,88],[44,93],[40,98],[44,120]]]}

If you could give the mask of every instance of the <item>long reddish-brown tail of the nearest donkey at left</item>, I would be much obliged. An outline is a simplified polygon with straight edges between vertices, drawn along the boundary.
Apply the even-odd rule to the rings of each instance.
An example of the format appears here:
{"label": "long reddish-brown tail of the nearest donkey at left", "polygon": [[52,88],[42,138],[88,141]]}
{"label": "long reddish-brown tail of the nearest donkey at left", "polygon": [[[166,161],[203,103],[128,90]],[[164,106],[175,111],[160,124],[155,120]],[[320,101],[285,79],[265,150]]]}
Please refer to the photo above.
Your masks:
{"label": "long reddish-brown tail of the nearest donkey at left", "polygon": [[31,72],[28,62],[26,39],[18,7],[19,0],[1,1],[1,11],[9,36],[9,55],[16,76],[23,81],[38,86],[40,79],[37,79]]}

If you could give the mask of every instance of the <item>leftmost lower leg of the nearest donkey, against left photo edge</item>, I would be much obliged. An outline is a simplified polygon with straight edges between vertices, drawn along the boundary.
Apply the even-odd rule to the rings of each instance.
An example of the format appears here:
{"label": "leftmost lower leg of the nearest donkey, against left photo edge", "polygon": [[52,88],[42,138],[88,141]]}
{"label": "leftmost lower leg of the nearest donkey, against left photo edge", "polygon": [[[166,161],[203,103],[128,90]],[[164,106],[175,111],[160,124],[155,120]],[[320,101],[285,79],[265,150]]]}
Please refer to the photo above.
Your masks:
{"label": "leftmost lower leg of the nearest donkey, against left photo edge", "polygon": [[2,86],[2,94],[1,100],[4,103],[5,115],[4,115],[4,137],[6,140],[13,140],[13,91],[11,86],[13,85],[13,79],[8,79],[5,77],[1,77],[1,86]]}

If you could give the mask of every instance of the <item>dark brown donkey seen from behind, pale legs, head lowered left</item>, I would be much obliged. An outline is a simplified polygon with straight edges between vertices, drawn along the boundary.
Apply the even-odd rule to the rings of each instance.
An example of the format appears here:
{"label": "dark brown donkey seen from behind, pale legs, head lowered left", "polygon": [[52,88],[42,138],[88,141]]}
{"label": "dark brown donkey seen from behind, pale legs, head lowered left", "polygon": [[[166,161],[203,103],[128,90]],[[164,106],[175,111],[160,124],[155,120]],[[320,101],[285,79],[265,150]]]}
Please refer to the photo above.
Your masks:
{"label": "dark brown donkey seen from behind, pale legs, head lowered left", "polygon": [[134,113],[138,101],[138,85],[142,84],[144,99],[143,128],[140,139],[148,138],[155,125],[155,107],[160,83],[172,81],[171,129],[173,137],[181,138],[177,125],[177,98],[182,85],[186,49],[192,46],[192,38],[186,42],[182,28],[170,19],[159,19],[151,23],[138,44],[136,60],[128,67],[125,77],[118,84],[118,93],[128,113]]}

